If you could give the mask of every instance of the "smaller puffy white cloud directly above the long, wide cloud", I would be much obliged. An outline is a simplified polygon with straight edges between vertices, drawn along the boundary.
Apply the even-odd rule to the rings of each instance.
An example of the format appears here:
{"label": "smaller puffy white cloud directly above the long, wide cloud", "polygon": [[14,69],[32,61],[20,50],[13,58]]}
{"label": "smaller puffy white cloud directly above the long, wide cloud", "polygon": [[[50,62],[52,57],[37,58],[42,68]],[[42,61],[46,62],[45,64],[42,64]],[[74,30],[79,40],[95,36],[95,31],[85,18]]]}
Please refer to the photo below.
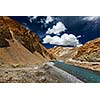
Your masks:
{"label": "smaller puffy white cloud directly above the long, wide cloud", "polygon": [[58,22],[56,25],[53,26],[52,29],[48,28],[47,34],[58,34],[66,30],[65,25],[62,22]]}

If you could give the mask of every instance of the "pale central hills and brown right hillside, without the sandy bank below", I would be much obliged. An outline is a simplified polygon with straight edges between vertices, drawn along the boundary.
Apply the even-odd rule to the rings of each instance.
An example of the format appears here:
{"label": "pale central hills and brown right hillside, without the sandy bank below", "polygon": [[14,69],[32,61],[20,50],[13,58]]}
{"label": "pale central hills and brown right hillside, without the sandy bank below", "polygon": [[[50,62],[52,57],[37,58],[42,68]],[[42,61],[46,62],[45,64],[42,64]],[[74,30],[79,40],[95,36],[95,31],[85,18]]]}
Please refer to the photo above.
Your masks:
{"label": "pale central hills and brown right hillside, without the sandy bank below", "polygon": [[49,49],[63,60],[74,59],[87,62],[100,62],[100,38],[96,38],[80,47],[54,47]]}

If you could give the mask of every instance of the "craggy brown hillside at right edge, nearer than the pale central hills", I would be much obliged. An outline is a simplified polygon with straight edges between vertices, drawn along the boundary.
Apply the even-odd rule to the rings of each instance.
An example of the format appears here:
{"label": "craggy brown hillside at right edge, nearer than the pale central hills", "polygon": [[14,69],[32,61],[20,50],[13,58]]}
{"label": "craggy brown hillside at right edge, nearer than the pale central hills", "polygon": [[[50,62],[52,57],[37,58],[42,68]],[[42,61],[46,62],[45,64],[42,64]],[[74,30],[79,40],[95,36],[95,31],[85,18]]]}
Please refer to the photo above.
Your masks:
{"label": "craggy brown hillside at right edge, nearer than the pale central hills", "polygon": [[81,46],[74,59],[88,62],[100,62],[100,38],[89,41]]}

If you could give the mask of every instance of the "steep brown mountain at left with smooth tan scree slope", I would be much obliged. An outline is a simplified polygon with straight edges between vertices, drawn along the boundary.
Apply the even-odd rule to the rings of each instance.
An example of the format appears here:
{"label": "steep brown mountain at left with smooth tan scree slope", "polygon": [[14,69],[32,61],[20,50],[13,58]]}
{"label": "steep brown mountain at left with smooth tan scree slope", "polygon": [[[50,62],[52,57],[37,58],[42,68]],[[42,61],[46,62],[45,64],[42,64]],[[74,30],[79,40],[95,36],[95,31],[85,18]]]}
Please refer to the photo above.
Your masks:
{"label": "steep brown mountain at left with smooth tan scree slope", "polygon": [[9,17],[0,17],[0,61],[2,63],[38,63],[53,58],[35,33]]}

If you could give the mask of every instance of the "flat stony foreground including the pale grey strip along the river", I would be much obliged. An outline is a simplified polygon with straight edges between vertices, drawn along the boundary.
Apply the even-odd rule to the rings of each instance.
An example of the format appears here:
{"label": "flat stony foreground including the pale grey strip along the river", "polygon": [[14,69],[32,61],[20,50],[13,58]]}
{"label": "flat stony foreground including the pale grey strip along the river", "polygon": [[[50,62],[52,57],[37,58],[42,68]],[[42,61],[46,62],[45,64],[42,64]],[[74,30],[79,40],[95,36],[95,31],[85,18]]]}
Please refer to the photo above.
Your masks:
{"label": "flat stony foreground including the pale grey strip along the river", "polygon": [[74,76],[50,63],[0,65],[1,83],[80,83]]}

